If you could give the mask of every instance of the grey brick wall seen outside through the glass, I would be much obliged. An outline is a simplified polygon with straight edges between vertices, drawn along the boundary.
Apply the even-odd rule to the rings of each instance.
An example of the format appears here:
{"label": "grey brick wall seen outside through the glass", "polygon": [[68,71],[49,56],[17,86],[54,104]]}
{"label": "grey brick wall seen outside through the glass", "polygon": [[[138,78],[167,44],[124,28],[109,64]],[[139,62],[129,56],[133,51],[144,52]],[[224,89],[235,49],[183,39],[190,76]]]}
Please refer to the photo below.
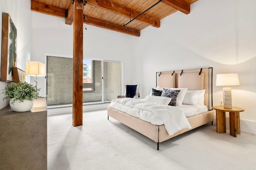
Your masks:
{"label": "grey brick wall seen outside through the glass", "polygon": [[[102,100],[101,61],[95,61],[95,91],[83,93],[83,102]],[[108,64],[104,62],[104,100],[108,100]],[[47,105],[72,104],[73,59],[47,56]]]}

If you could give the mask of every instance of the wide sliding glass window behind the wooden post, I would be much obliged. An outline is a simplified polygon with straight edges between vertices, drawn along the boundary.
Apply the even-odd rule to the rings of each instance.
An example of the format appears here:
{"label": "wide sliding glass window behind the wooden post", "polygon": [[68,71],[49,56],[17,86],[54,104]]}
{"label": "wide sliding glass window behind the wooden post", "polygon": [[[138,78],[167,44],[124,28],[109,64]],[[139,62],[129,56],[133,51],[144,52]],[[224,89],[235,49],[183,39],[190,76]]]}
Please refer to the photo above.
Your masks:
{"label": "wide sliding glass window behind the wooden post", "polygon": [[[72,105],[73,59],[46,58],[47,105]],[[121,95],[121,64],[115,61],[83,60],[84,104],[110,102]]]}

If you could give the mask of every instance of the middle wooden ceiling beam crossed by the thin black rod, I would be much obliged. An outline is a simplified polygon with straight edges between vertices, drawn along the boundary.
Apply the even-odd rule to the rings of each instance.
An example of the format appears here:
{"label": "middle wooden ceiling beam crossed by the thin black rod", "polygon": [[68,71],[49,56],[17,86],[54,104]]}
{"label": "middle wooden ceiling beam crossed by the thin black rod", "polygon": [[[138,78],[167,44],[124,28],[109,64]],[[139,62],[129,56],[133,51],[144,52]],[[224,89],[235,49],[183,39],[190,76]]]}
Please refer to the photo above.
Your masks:
{"label": "middle wooden ceiling beam crossed by the thin black rod", "polygon": [[[111,2],[110,0],[86,0],[87,4],[91,6],[95,6],[97,8],[101,8],[103,10],[108,10],[110,12],[114,12],[115,14],[124,16],[126,18],[135,18],[136,16],[140,15],[141,12],[134,11],[130,8],[125,6],[121,6],[115,2]],[[130,16],[131,15],[131,16]],[[136,20],[141,21],[147,25],[152,25],[154,27],[160,27],[160,20],[154,17],[150,17],[146,14],[142,14]]]}

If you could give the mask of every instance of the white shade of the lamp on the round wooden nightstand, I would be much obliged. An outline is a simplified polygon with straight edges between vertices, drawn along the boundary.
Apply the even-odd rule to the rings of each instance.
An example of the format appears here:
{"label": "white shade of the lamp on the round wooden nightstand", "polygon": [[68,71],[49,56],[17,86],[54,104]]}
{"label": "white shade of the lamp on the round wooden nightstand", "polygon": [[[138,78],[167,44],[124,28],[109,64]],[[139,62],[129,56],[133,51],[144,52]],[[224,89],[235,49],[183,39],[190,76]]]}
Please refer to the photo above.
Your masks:
{"label": "white shade of the lamp on the round wooden nightstand", "polygon": [[240,85],[238,74],[217,74],[216,86],[238,86]]}

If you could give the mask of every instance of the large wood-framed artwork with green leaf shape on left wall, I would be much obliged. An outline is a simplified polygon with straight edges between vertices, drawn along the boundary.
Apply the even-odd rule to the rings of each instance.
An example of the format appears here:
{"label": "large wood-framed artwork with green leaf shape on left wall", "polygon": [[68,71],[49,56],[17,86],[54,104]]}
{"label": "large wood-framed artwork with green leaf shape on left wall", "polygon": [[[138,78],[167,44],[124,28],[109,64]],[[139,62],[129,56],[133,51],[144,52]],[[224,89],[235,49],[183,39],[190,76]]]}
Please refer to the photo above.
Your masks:
{"label": "large wood-framed artwork with green leaf shape on left wall", "polygon": [[12,67],[16,67],[17,29],[9,14],[3,12],[1,81],[14,82]]}

